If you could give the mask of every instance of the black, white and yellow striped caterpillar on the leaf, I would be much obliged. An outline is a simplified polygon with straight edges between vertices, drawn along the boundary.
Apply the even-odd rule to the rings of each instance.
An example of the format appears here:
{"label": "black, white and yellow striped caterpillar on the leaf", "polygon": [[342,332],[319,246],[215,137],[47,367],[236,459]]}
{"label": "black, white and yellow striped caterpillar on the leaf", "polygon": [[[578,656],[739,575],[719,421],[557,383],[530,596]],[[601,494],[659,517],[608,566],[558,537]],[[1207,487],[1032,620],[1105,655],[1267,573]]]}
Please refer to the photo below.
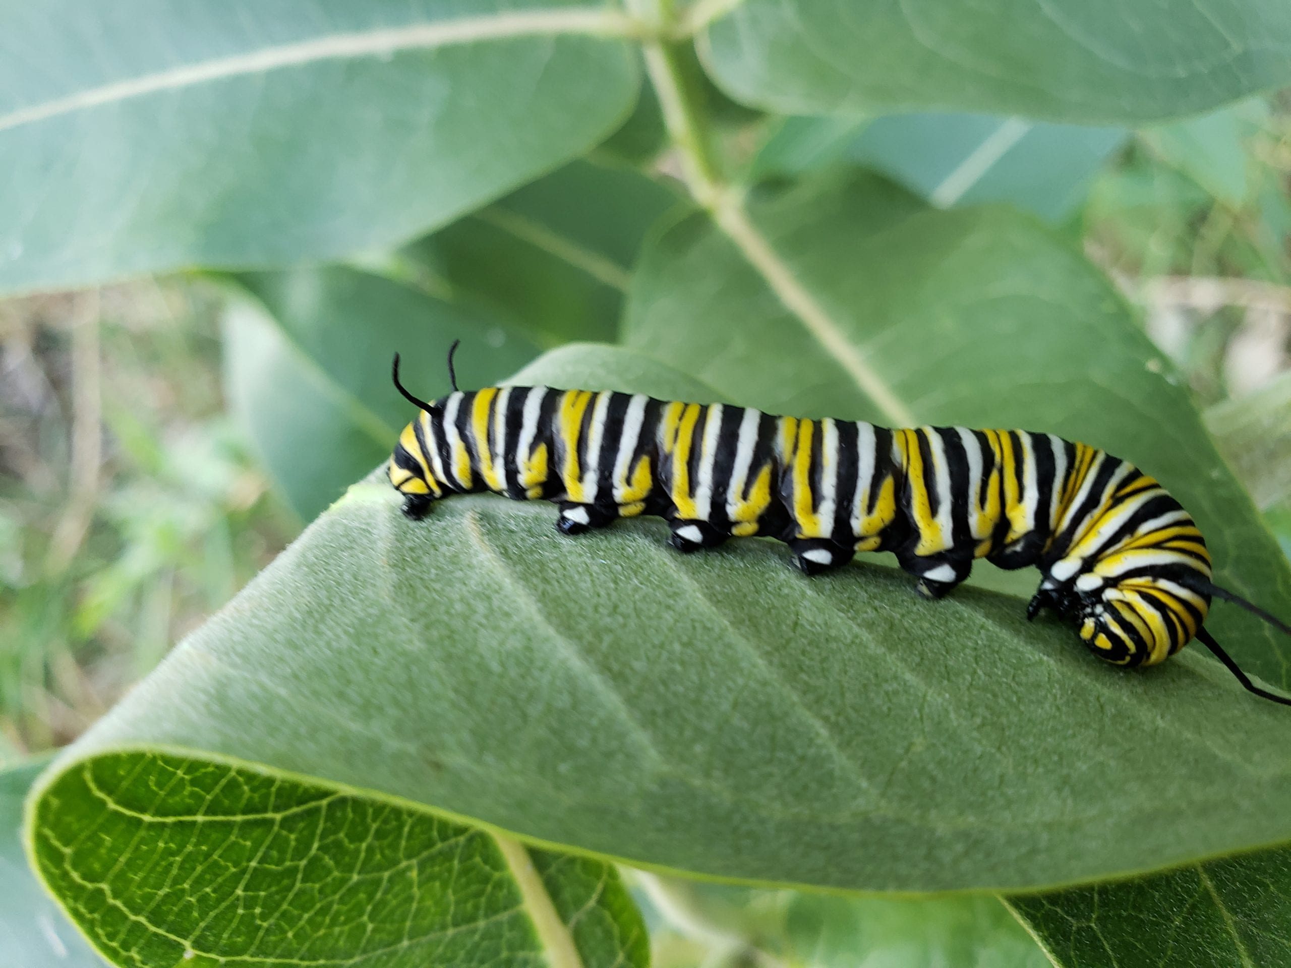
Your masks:
{"label": "black, white and yellow striped caterpillar on the leaf", "polygon": [[1206,541],[1155,479],[1119,457],[1052,434],[775,417],[742,407],[549,387],[457,388],[399,435],[387,474],[403,511],[491,490],[553,501],[578,534],[617,518],[667,519],[680,551],[729,537],[789,545],[807,574],[857,551],[892,551],[918,590],[941,598],[979,558],[1035,565],[1026,607],[1074,621],[1099,658],[1150,666],[1199,639],[1256,696],[1259,688],[1202,627],[1211,599],[1291,634],[1268,612],[1211,583]]}

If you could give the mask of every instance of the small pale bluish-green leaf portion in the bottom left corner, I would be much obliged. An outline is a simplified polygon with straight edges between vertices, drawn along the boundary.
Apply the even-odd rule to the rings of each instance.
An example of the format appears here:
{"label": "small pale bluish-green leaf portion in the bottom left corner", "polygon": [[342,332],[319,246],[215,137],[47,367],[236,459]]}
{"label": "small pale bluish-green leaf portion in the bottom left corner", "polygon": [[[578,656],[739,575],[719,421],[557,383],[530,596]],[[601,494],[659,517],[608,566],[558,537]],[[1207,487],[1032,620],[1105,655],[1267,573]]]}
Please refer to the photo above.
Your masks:
{"label": "small pale bluish-green leaf portion in the bottom left corner", "polygon": [[40,889],[22,851],[22,802],[48,758],[0,769],[0,964],[102,968],[102,959]]}

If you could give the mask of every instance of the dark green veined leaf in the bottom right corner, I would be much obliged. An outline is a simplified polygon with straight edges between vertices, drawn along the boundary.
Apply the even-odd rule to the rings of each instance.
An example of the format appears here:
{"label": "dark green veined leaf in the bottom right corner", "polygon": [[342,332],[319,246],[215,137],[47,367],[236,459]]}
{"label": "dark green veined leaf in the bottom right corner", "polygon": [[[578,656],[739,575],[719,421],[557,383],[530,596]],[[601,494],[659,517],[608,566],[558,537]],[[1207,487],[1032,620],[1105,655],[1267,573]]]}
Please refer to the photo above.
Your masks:
{"label": "dark green veined leaf in the bottom right corner", "polygon": [[1291,964],[1291,851],[1010,898],[1062,968]]}

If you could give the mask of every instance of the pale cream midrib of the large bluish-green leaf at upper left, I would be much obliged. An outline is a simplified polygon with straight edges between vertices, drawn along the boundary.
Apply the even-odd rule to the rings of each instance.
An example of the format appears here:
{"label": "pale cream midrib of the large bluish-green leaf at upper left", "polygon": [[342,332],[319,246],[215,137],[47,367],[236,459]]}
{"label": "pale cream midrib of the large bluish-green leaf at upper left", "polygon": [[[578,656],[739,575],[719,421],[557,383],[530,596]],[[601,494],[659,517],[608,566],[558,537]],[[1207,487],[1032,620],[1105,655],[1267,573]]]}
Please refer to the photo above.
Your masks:
{"label": "pale cream midrib of the large bluish-green leaf at upper left", "polygon": [[404,27],[330,34],[293,44],[280,44],[232,57],[173,67],[156,74],[103,84],[98,88],[88,88],[53,101],[19,107],[17,111],[0,115],[0,132],[163,90],[191,88],[226,77],[263,75],[266,71],[302,67],[318,61],[389,57],[400,50],[426,50],[448,44],[470,44],[479,40],[528,35],[621,36],[631,32],[631,27],[630,18],[613,10],[555,9],[515,10],[489,17],[463,17],[435,23],[409,23]]}

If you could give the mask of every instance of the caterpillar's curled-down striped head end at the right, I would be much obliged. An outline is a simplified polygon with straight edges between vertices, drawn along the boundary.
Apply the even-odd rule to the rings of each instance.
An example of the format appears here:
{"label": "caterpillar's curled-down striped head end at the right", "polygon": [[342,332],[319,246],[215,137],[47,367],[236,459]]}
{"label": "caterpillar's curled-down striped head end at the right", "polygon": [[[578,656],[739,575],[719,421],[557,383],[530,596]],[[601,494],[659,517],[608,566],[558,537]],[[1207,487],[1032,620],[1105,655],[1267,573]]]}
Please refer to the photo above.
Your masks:
{"label": "caterpillar's curled-down striped head end at the right", "polygon": [[1192,640],[1206,620],[1210,598],[1168,574],[1114,580],[1095,565],[1062,577],[1055,565],[1028,605],[1026,617],[1034,618],[1042,608],[1073,622],[1081,640],[1105,662],[1154,666]]}

